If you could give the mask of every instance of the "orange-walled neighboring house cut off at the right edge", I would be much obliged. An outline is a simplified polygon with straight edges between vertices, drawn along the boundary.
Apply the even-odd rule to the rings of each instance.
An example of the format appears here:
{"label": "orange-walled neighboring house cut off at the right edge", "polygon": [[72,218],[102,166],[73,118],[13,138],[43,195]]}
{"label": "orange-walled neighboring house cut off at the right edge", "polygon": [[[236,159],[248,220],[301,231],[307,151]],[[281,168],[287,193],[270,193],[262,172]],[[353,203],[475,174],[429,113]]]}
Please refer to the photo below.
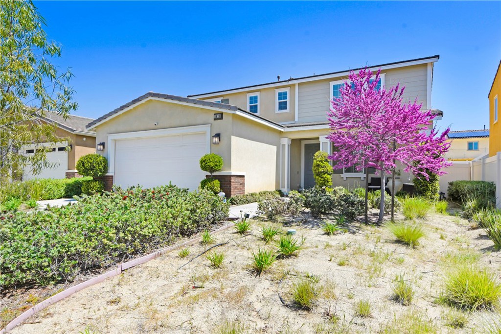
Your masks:
{"label": "orange-walled neighboring house cut off at the right edge", "polygon": [[499,121],[499,109],[501,103],[501,61],[497,66],[496,75],[492,81],[492,86],[489,91],[489,156],[494,156],[497,152],[501,152],[501,121]]}

